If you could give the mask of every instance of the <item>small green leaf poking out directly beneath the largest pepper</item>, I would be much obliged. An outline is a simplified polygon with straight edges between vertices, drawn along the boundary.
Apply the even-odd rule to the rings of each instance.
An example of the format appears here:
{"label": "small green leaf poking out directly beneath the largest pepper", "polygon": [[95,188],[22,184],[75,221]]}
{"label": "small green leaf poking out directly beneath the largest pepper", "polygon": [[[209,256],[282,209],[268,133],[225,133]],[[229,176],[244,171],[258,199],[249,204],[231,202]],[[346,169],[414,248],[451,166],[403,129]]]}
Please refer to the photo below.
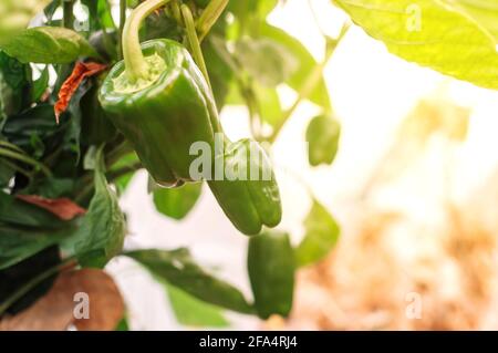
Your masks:
{"label": "small green leaf poking out directly beneath the largest pepper", "polygon": [[203,183],[185,184],[178,188],[157,188],[154,190],[154,205],[165,216],[180,220],[197,204],[203,191]]}

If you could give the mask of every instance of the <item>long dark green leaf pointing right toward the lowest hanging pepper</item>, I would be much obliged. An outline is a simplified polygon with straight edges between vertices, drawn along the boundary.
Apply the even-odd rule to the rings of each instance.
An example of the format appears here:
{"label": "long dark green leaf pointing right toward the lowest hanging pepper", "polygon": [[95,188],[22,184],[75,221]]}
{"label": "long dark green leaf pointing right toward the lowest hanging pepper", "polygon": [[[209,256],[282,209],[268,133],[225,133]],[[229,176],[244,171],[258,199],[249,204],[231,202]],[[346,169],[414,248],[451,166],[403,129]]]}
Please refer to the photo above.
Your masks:
{"label": "long dark green leaf pointing right toward the lowest hanging pepper", "polygon": [[126,252],[125,256],[142,263],[154,277],[201,301],[241,313],[252,313],[252,307],[238,289],[203,270],[187,249],[137,250]]}

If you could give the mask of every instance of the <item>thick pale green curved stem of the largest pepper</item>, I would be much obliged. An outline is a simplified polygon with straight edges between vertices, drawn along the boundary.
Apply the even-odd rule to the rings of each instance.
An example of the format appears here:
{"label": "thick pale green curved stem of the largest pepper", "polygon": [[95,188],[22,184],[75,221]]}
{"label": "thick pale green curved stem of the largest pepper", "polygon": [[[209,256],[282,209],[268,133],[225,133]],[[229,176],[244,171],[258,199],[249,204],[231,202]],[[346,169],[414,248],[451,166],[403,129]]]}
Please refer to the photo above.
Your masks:
{"label": "thick pale green curved stem of the largest pepper", "polygon": [[170,0],[147,0],[132,11],[126,19],[123,29],[123,58],[125,61],[126,75],[128,81],[134,83],[138,79],[147,80],[148,64],[142,53],[138,31],[144,19],[156,9],[165,6]]}

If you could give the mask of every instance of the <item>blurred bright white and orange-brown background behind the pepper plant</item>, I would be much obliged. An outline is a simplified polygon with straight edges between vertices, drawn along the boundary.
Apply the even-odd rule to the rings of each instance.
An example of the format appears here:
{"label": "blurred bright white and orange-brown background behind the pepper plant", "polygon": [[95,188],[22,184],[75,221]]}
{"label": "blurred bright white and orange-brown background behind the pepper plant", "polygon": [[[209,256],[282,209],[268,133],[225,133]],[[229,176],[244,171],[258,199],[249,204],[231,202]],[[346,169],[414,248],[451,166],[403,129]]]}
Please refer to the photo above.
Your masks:
{"label": "blurred bright white and orange-brown background behind the pepper plant", "polygon": [[[287,0],[270,15],[318,61],[321,31],[336,37],[344,20],[328,0]],[[341,226],[336,247],[300,270],[288,321],[204,314],[217,318],[214,326],[236,330],[498,329],[498,93],[407,63],[354,25],[325,80],[342,124],[334,164],[309,167],[305,128],[320,112],[311,103],[286,124],[272,158],[284,207],[279,229],[299,243],[311,207],[308,185]],[[284,106],[295,98],[286,87],[279,94]],[[228,106],[221,118],[232,139],[250,135],[246,108]],[[146,173],[138,173],[122,198],[126,248],[189,247],[250,298],[247,238],[207,188],[177,222],[155,210],[146,185]],[[131,329],[191,329],[170,308],[177,295],[165,297],[138,266],[118,258],[107,269]]]}

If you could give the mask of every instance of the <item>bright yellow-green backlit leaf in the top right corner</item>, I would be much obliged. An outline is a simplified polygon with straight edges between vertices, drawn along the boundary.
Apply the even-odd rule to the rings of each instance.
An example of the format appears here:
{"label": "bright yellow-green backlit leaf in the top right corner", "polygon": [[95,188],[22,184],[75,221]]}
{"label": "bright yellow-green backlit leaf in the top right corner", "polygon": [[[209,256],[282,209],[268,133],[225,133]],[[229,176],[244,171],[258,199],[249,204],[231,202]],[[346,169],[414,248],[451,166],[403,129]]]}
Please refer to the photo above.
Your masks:
{"label": "bright yellow-green backlit leaf in the top right corner", "polygon": [[456,7],[433,0],[334,2],[392,53],[449,76],[498,89],[495,38]]}

